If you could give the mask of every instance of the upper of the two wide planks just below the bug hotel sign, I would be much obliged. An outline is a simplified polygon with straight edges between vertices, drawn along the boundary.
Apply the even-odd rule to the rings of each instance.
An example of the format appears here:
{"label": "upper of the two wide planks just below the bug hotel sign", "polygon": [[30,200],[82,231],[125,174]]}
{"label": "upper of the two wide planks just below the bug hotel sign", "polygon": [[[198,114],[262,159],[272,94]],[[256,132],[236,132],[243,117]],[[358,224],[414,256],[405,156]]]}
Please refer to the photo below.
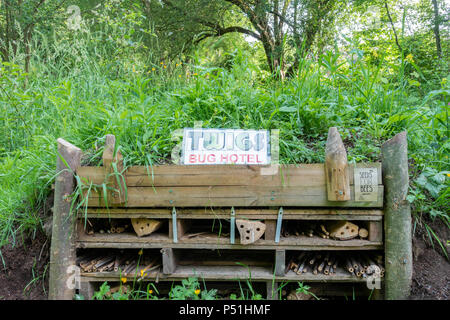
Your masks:
{"label": "upper of the two wide planks just below the bug hotel sign", "polygon": [[[349,182],[353,185],[353,167],[375,167],[381,184],[381,163],[357,163],[349,166]],[[129,167],[124,173],[128,187],[176,186],[325,186],[324,164],[281,165],[277,174],[262,175],[262,166],[161,165],[147,168]],[[153,170],[153,171],[152,171]],[[103,167],[78,167],[77,174],[84,181],[101,185],[105,182]]]}

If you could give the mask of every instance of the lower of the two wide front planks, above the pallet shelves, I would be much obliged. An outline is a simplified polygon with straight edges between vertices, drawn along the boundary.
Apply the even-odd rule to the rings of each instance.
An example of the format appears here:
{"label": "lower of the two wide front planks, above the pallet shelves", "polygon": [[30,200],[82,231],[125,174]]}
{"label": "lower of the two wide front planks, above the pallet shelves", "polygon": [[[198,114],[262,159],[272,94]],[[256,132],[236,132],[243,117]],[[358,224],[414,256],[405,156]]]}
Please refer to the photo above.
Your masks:
{"label": "lower of the two wide front planks, above the pallet shelves", "polygon": [[[352,198],[353,186],[351,187]],[[101,192],[89,195],[90,207],[104,207]],[[322,187],[211,186],[211,187],[129,187],[126,207],[231,207],[231,206],[308,206],[375,207],[383,206],[383,186],[375,202],[328,201]]]}

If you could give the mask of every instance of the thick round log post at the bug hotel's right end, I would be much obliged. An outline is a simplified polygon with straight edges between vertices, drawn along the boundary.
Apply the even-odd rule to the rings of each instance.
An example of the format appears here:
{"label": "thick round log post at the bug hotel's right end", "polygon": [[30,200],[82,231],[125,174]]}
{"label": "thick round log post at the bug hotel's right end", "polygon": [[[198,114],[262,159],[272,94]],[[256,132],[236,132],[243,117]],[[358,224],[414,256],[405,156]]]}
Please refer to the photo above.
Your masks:
{"label": "thick round log post at the bug hotel's right end", "polygon": [[411,210],[408,194],[408,145],[406,132],[381,147],[385,188],[385,297],[406,299],[412,279]]}

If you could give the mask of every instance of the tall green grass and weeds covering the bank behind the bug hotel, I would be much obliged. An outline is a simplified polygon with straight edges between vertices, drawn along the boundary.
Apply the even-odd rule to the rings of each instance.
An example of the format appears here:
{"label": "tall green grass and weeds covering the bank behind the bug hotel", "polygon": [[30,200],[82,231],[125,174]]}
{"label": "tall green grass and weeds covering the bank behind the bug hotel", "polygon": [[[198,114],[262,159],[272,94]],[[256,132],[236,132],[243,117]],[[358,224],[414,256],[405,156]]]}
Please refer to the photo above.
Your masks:
{"label": "tall green grass and weeds covering the bank behind the bug hotel", "polygon": [[350,161],[377,161],[380,145],[406,129],[413,161],[408,199],[420,221],[448,224],[450,79],[422,97],[401,74],[392,76],[387,62],[372,65],[354,48],[305,59],[298,75],[280,82],[239,50],[226,68],[198,57],[161,63],[132,49],[114,51],[105,34],[42,35],[28,75],[17,66],[20,57],[1,65],[0,246],[42,225],[58,137],[95,165],[102,139],[114,134],[125,165],[153,165],[169,160],[177,143],[172,132],[196,121],[280,129],[284,163],[323,161],[331,126],[339,128]]}

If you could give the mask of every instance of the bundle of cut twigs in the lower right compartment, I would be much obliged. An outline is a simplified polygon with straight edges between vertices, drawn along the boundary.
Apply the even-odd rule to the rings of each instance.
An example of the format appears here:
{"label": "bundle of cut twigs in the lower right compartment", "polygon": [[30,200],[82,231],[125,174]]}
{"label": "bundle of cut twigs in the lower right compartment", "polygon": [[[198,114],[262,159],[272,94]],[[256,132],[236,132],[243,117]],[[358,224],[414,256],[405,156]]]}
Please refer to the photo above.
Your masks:
{"label": "bundle of cut twigs in the lower right compartment", "polygon": [[299,275],[311,272],[332,276],[338,267],[362,278],[384,276],[382,257],[367,253],[301,252],[291,257],[285,271],[292,270]]}

